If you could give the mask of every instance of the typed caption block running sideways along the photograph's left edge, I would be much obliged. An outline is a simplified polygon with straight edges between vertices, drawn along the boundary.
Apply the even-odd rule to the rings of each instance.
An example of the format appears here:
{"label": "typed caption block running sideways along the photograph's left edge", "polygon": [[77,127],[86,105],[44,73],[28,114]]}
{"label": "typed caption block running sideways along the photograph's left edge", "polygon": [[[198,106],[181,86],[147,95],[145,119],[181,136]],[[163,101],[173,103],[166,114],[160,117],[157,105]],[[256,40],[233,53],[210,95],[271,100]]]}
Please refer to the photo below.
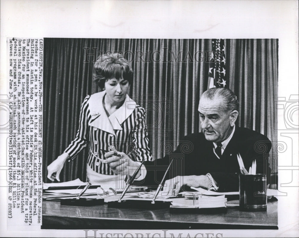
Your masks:
{"label": "typed caption block running sideways along the photograph's left edge", "polygon": [[43,39],[7,39],[7,225],[42,224]]}

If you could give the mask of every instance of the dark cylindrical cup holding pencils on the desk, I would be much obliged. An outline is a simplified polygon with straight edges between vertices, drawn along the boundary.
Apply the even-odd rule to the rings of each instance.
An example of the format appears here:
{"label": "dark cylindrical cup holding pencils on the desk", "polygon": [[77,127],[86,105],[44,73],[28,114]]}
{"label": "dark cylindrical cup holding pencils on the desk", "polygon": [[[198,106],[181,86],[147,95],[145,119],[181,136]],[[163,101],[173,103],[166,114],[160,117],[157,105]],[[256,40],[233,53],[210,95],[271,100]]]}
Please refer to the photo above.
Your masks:
{"label": "dark cylindrical cup holding pencils on the desk", "polygon": [[239,174],[239,209],[267,211],[266,174]]}

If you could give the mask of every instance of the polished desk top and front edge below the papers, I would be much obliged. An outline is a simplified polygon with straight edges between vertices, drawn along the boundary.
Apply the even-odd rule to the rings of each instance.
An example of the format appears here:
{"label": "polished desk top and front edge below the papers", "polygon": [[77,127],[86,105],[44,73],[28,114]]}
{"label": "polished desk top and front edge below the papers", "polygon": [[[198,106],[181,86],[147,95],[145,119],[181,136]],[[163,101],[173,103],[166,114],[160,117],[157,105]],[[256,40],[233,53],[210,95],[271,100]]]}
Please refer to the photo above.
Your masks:
{"label": "polished desk top and front edge below the papers", "polygon": [[263,212],[229,207],[225,214],[170,214],[169,209],[119,209],[107,204],[76,207],[44,200],[42,229],[278,229],[277,201],[269,202]]}

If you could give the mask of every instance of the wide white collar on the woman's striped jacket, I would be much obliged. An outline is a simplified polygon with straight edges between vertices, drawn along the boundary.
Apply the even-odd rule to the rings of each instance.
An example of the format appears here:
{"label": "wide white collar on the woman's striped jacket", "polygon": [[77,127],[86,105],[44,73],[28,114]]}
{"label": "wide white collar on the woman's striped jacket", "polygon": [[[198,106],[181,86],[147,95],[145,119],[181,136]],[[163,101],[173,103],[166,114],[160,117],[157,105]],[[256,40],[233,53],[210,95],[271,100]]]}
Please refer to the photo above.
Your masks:
{"label": "wide white collar on the woman's striped jacket", "polygon": [[123,105],[108,117],[103,106],[105,94],[106,91],[102,91],[90,96],[88,105],[91,122],[89,125],[115,135],[114,130],[122,130],[121,124],[134,112],[136,102],[126,95]]}

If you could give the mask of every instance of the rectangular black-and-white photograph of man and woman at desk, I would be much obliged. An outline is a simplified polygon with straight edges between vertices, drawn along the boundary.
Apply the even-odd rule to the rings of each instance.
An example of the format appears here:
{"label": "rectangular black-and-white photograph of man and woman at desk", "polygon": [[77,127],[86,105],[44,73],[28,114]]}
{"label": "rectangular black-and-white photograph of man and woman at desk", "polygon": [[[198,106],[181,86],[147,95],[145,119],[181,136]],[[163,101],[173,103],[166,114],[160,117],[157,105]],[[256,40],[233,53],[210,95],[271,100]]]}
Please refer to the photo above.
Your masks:
{"label": "rectangular black-and-white photograph of man and woman at desk", "polygon": [[[69,218],[76,216],[77,207],[61,206],[57,211],[54,207],[60,202],[51,200],[59,195],[49,190],[42,228],[204,229],[205,214],[217,213],[213,203],[205,204],[212,206],[211,211],[207,208],[204,214],[194,215],[184,211],[186,197],[181,198],[196,196],[199,188],[204,190],[198,194],[235,192],[235,197],[226,198],[231,201],[222,201],[228,208],[219,211],[220,217],[215,214],[209,227],[277,227],[277,199],[270,194],[267,201],[266,193],[267,188],[268,195],[277,188],[277,151],[272,142],[277,141],[278,39],[45,38],[43,69],[43,144],[48,145],[43,151],[43,181],[47,186],[56,185],[51,181],[90,182],[94,186],[86,191],[90,199],[100,199],[98,194],[112,188],[120,194],[106,200],[118,201],[126,189],[126,176],[139,169],[124,203],[133,200],[130,191],[135,186],[147,188],[150,198],[160,183],[163,189],[158,195],[169,203],[163,210],[151,211],[154,217],[144,214],[151,201],[141,195],[124,210],[110,208],[109,203],[82,208],[81,215],[90,216],[83,219],[86,225]],[[243,213],[235,206],[240,174],[244,194],[264,194],[256,201],[246,194]],[[96,185],[101,187],[98,194],[93,193]],[[247,191],[247,186],[256,191]],[[68,193],[74,188],[55,189]],[[141,198],[149,204],[142,201],[138,211]],[[178,212],[183,217],[168,218],[172,203],[182,204]],[[193,213],[200,209],[195,207]],[[256,211],[267,212],[256,216]],[[248,212],[256,218],[246,226],[242,217]],[[136,213],[142,214],[140,219]],[[127,221],[132,219],[136,222]]]}

